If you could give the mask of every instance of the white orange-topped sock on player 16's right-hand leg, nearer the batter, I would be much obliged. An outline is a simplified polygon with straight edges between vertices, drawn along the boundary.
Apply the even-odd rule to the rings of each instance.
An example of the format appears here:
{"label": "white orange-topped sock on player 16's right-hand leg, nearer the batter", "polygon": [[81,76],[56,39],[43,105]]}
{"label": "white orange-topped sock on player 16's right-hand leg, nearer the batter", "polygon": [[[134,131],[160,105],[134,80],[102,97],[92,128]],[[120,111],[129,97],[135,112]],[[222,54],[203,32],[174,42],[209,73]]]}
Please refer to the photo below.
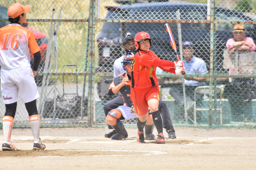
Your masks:
{"label": "white orange-topped sock on player 16's right-hand leg, nearer the batter", "polygon": [[39,143],[39,126],[40,126],[40,119],[39,115],[32,115],[29,117],[29,124],[33,133],[34,143]]}

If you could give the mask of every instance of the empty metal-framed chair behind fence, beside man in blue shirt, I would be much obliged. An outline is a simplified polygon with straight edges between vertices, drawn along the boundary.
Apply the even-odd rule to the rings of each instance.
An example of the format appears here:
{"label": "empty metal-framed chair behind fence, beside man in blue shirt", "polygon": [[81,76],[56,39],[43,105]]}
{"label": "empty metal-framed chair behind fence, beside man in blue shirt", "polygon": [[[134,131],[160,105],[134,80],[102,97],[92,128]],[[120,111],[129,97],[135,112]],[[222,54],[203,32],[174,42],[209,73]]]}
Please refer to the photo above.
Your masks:
{"label": "empty metal-framed chair behind fence, beside man in blue shirt", "polygon": [[[209,107],[196,107],[196,94],[208,94],[210,95],[210,86],[200,86],[194,91],[194,124],[196,125],[196,111],[209,111]],[[222,92],[221,89],[216,87],[216,94],[220,94],[220,106],[219,108],[212,108],[212,110],[220,111],[220,125],[222,125]],[[214,87],[212,87],[212,96],[214,95]]]}

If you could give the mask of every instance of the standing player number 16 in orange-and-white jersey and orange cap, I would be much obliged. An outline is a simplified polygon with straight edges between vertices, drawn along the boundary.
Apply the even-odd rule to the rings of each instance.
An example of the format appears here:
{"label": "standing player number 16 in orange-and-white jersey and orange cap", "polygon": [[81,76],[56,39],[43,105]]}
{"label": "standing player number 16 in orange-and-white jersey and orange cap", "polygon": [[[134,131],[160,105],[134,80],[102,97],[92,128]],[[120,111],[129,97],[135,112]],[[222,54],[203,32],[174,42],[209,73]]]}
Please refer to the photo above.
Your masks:
{"label": "standing player number 16 in orange-and-white jersey and orange cap", "polygon": [[[29,11],[29,5],[22,6],[20,3],[11,5],[8,8],[10,24],[0,28],[1,91],[6,107],[2,124],[4,133],[2,150],[20,150],[11,143],[10,139],[18,92],[28,111],[34,136],[33,150],[45,149],[39,138],[40,119],[36,108],[39,94],[34,80],[41,60],[40,48],[33,33],[20,25],[26,21],[26,13]],[[32,66],[30,66],[30,51],[34,54]]]}

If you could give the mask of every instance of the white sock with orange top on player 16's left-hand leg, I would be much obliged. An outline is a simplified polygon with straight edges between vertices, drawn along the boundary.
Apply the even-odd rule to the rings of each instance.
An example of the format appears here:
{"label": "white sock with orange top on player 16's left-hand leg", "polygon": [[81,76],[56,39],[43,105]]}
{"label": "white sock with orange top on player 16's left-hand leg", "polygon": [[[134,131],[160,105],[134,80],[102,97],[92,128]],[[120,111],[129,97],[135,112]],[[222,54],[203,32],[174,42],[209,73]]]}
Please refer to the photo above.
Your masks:
{"label": "white sock with orange top on player 16's left-hand leg", "polygon": [[9,144],[11,143],[12,125],[13,125],[13,117],[4,116],[4,118],[3,118],[4,141],[3,141],[3,143],[9,143]]}

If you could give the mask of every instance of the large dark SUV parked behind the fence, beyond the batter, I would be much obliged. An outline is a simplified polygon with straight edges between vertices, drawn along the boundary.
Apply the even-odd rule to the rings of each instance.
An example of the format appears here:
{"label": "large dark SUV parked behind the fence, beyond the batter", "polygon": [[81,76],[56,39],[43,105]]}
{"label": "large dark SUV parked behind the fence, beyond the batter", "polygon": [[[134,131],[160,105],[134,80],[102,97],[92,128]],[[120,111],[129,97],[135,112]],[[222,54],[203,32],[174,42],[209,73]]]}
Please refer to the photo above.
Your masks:
{"label": "large dark SUV parked behind the fence, beyond the batter", "polygon": [[[176,9],[180,8],[180,20],[206,20],[206,4],[155,2],[131,4],[121,6],[106,6],[108,10],[106,20],[176,20]],[[254,21],[233,10],[222,7],[215,8],[215,20],[220,21]],[[161,59],[176,61],[174,51],[164,31],[165,23],[126,23],[126,33],[136,35],[146,31],[152,38],[152,51]],[[179,51],[177,23],[169,23]],[[216,31],[216,69],[227,72],[222,67],[223,49],[232,36],[234,24],[215,24]],[[244,24],[247,37],[256,40],[256,31],[253,24]],[[203,59],[209,68],[210,62],[210,24],[208,23],[181,23],[182,41],[192,41],[195,47],[194,55]],[[122,56],[121,23],[103,23],[98,42],[98,72],[112,72],[114,60]]]}

